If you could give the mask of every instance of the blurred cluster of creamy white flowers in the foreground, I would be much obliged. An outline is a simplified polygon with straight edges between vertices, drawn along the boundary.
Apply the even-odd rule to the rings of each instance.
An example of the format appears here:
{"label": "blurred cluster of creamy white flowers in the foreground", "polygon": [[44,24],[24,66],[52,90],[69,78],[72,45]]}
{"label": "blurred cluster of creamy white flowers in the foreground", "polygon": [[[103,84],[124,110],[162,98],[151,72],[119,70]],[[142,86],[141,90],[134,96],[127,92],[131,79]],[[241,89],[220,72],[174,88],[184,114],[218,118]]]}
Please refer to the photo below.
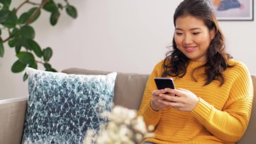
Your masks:
{"label": "blurred cluster of creamy white flowers in the foreground", "polygon": [[136,110],[121,106],[112,108],[112,112],[103,112],[101,118],[108,118],[107,125],[101,125],[99,134],[87,131],[84,144],[137,144],[145,138],[154,137],[154,126],[149,125],[148,130],[142,116],[136,116]]}

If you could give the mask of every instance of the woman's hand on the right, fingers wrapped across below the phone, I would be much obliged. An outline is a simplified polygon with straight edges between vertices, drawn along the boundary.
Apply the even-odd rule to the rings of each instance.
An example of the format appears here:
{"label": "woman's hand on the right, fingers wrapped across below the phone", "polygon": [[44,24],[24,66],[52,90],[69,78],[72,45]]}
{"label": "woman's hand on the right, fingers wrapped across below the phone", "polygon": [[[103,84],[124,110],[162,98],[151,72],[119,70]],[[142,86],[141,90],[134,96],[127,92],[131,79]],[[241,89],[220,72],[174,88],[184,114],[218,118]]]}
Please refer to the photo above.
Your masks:
{"label": "woman's hand on the right, fingers wrapped across below the phone", "polygon": [[[167,94],[159,94],[159,96],[163,97],[165,100],[158,100],[158,102],[171,106],[174,109],[178,109],[184,112],[191,112],[197,106],[199,99],[198,97],[189,90],[185,90],[183,88],[164,89]],[[170,96],[170,94],[174,94],[176,96]]]}

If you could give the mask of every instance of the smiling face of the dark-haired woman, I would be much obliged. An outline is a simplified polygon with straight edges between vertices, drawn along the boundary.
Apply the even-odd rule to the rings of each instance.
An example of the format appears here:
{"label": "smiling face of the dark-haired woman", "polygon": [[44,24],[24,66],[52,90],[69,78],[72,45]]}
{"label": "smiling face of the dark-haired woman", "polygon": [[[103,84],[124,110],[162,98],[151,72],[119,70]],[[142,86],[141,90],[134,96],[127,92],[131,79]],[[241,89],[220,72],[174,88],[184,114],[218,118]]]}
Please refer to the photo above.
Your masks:
{"label": "smiling face of the dark-haired woman", "polygon": [[201,19],[189,15],[176,19],[175,43],[192,61],[207,61],[207,50],[214,36],[215,29],[210,31]]}

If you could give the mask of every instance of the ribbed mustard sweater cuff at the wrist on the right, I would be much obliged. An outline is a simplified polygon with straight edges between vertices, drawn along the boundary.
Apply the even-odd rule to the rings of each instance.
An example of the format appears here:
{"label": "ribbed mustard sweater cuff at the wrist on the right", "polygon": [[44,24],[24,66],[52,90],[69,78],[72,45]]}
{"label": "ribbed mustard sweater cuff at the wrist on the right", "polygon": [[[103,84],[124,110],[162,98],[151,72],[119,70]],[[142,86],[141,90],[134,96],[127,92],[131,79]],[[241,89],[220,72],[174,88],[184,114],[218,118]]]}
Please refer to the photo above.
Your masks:
{"label": "ribbed mustard sweater cuff at the wrist on the right", "polygon": [[199,121],[204,122],[210,118],[212,106],[208,104],[208,102],[199,98],[199,102],[195,109],[193,109],[190,113]]}

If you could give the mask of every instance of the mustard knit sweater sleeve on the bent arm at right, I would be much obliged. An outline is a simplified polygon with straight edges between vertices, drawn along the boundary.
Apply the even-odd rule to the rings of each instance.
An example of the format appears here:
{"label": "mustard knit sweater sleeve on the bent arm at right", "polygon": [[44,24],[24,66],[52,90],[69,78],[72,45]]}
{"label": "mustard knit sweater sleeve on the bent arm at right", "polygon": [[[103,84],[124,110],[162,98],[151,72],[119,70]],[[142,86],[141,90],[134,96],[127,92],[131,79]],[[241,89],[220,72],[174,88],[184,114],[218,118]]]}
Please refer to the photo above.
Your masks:
{"label": "mustard knit sweater sleeve on the bent arm at right", "polygon": [[222,111],[199,98],[197,107],[191,112],[208,131],[227,142],[236,142],[243,136],[252,109],[253,84],[248,69],[240,64],[236,72],[237,77]]}

